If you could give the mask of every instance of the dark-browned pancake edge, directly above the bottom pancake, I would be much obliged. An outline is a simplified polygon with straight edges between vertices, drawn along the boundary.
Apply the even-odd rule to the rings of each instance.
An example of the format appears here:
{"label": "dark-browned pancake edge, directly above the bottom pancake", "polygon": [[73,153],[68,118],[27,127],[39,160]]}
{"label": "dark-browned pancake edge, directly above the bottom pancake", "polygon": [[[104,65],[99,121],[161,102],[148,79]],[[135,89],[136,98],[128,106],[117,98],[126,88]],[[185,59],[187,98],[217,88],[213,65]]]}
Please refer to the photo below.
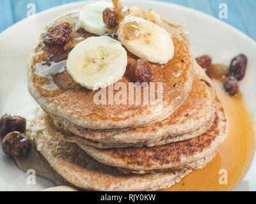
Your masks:
{"label": "dark-browned pancake edge, directly above the bottom pancake", "polygon": [[211,128],[196,138],[157,147],[99,149],[83,145],[81,148],[100,163],[147,173],[152,170],[184,168],[187,164],[214,154],[221,143],[225,142],[227,131],[225,112],[216,99],[216,114]]}

